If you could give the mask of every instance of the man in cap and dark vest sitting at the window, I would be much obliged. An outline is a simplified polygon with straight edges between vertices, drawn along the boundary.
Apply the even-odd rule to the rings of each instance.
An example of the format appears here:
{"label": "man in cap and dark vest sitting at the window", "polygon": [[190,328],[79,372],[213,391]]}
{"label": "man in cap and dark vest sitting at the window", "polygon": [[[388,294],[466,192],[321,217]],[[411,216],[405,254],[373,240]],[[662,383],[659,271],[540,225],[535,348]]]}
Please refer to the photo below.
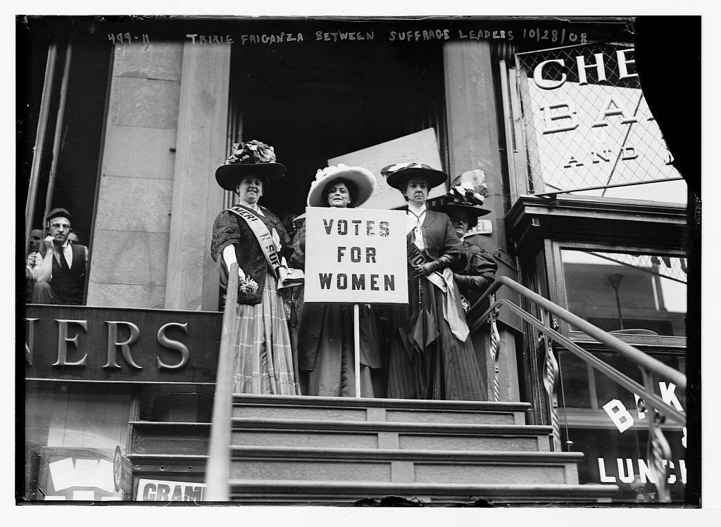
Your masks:
{"label": "man in cap and dark vest sitting at the window", "polygon": [[71,223],[66,209],[53,209],[46,221],[48,236],[43,239],[45,255],[40,265],[32,270],[32,279],[35,280],[32,303],[82,304],[88,249],[68,242]]}

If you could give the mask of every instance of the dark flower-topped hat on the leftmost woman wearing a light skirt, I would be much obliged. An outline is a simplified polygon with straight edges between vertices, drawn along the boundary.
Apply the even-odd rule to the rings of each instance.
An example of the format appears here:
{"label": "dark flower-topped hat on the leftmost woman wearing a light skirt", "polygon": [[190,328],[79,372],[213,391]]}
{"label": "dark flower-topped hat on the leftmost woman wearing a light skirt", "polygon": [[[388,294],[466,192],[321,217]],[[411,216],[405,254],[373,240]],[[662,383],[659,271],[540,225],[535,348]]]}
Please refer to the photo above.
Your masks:
{"label": "dark flower-topped hat on the leftmost woman wearing a light skirt", "polygon": [[233,145],[233,153],[216,169],[216,181],[225,190],[234,191],[249,174],[265,177],[270,182],[285,173],[285,165],[275,162],[273,146],[253,140]]}

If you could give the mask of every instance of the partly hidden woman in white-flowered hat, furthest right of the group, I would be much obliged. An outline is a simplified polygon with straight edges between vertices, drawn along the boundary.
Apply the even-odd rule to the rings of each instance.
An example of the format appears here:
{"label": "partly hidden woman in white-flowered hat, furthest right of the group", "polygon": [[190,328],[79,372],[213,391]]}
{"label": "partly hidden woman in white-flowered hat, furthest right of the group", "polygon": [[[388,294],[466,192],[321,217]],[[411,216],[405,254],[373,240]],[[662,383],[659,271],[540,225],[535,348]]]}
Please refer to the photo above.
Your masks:
{"label": "partly hidden woman in white-flowered hat, furthest right of the group", "polygon": [[446,195],[445,203],[430,207],[430,210],[442,212],[451,218],[451,225],[466,251],[466,267],[454,273],[456,284],[467,302],[464,303],[466,311],[493,283],[498,270],[498,264],[489,252],[464,239],[466,233],[478,225],[478,218],[490,213],[482,205],[483,196],[466,182],[453,187]]}

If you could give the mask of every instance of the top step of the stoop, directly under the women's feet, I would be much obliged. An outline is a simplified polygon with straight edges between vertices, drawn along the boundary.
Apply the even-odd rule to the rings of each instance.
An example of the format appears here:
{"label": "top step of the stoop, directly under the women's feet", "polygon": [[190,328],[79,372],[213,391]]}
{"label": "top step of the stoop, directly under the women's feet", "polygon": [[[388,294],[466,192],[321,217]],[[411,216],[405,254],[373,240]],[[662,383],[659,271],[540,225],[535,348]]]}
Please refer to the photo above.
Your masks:
{"label": "top step of the stoop, directly under the women's feet", "polygon": [[235,394],[233,417],[524,425],[531,404]]}

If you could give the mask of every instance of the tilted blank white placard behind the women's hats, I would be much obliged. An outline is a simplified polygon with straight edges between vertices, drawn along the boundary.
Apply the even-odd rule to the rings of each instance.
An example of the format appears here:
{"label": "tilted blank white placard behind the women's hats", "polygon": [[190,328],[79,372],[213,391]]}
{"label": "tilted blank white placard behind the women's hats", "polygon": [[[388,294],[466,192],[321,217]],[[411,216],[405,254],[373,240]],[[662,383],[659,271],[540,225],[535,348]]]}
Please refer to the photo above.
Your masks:
{"label": "tilted blank white placard behind the women's hats", "polygon": [[[376,176],[378,181],[376,192],[373,192],[371,199],[363,203],[360,208],[398,208],[405,206],[406,201],[397,189],[386,184],[386,178],[381,176],[381,169],[389,164],[410,161],[425,163],[431,168],[443,170],[433,128],[328,159],[328,164],[343,163],[350,167],[363,167]],[[439,185],[430,189],[428,198],[438,198],[445,193],[446,185]]]}

